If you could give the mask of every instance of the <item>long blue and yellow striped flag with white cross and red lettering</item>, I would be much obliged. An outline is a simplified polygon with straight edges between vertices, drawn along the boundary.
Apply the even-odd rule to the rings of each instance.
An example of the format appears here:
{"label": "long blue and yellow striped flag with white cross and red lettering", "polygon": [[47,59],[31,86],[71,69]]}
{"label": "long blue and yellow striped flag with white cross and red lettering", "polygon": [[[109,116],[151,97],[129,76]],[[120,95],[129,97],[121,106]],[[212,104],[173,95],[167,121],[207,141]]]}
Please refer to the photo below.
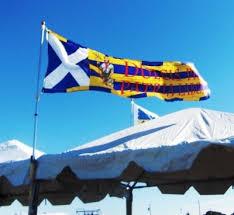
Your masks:
{"label": "long blue and yellow striped flag with white cross and red lettering", "polygon": [[207,83],[193,64],[111,57],[47,30],[48,67],[43,92],[96,90],[128,98],[165,101],[209,98]]}

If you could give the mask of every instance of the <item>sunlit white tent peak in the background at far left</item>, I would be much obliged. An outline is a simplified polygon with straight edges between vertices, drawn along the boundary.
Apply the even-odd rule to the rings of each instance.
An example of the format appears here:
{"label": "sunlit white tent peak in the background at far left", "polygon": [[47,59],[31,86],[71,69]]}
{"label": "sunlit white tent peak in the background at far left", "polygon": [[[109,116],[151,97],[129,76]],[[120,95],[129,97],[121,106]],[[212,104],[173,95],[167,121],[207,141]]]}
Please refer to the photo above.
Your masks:
{"label": "sunlit white tent peak in the background at far left", "polygon": [[[35,151],[36,158],[45,154],[44,152]],[[9,161],[19,161],[30,158],[32,155],[32,147],[21,143],[18,140],[9,140],[0,143],[0,163]]]}

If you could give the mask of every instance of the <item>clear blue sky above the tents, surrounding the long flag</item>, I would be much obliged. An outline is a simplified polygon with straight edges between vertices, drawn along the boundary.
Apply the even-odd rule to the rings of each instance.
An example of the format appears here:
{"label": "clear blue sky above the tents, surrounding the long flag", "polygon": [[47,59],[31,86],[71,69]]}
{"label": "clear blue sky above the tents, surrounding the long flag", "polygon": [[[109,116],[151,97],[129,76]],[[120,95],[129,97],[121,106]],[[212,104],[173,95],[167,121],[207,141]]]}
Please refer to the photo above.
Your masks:
{"label": "clear blue sky above the tents, surrounding the long flag", "polygon": [[[195,63],[211,98],[135,100],[160,116],[191,107],[233,113],[233,8],[232,0],[1,1],[0,142],[32,145],[42,20],[66,38],[112,56]],[[40,84],[46,66],[45,43]],[[37,148],[59,153],[130,125],[127,98],[94,91],[43,94]]]}

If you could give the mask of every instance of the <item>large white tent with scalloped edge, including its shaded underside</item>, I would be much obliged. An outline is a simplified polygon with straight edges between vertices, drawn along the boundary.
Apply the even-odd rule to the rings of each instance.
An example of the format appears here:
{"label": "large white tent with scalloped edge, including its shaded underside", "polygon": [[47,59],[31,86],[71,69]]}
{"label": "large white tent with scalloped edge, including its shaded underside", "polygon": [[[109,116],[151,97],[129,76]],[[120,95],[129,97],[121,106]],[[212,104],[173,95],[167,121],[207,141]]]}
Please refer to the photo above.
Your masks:
{"label": "large white tent with scalloped edge, including its shaded underside", "polygon": [[[157,186],[162,193],[184,194],[193,186],[200,194],[225,193],[234,184],[233,162],[234,114],[186,109],[65,153],[41,156],[36,174],[39,202],[47,198],[52,204],[69,204],[76,196],[83,202],[100,201],[107,194],[125,196],[131,214],[134,188]],[[15,188],[0,189],[0,205],[14,199],[28,204],[28,170],[17,172],[14,180],[13,169],[23,165],[27,164],[0,166],[0,187],[11,183]]]}

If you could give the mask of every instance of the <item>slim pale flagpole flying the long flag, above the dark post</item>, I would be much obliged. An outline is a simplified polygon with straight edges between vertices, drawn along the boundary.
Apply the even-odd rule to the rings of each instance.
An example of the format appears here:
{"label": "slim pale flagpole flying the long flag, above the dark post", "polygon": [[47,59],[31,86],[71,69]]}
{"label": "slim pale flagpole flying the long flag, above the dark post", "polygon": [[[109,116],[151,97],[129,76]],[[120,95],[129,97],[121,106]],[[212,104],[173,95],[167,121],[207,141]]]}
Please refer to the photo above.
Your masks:
{"label": "slim pale flagpole flying the long flag, above the dark post", "polygon": [[45,22],[41,23],[41,42],[40,42],[40,52],[39,52],[39,61],[38,61],[38,73],[37,73],[37,87],[36,87],[36,104],[35,104],[35,113],[34,113],[34,132],[33,132],[33,153],[32,159],[35,160],[35,150],[37,143],[37,124],[38,124],[38,105],[40,99],[40,75],[41,75],[41,59],[42,59],[42,44],[44,41],[44,32],[45,32]]}

